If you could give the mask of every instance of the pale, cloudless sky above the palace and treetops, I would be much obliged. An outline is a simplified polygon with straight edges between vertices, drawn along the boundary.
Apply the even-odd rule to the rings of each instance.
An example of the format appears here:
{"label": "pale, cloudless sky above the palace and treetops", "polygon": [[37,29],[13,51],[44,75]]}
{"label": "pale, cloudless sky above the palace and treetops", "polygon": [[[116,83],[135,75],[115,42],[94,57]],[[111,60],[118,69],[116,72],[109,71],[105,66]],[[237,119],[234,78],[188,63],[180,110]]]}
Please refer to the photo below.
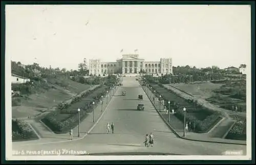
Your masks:
{"label": "pale, cloudless sky above the palace and treetops", "polygon": [[7,5],[6,56],[74,70],[138,49],[173,66],[239,67],[250,65],[250,21],[249,5]]}

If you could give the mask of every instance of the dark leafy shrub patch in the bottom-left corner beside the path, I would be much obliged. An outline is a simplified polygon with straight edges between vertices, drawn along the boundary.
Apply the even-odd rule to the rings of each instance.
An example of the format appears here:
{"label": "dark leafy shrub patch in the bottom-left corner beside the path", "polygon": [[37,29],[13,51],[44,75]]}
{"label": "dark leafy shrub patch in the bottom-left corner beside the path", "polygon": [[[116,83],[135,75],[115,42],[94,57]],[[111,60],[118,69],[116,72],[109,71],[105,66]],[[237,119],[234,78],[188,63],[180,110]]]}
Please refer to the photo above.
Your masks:
{"label": "dark leafy shrub patch in the bottom-left corner beside the path", "polygon": [[12,140],[32,140],[38,139],[28,123],[20,120],[12,120]]}

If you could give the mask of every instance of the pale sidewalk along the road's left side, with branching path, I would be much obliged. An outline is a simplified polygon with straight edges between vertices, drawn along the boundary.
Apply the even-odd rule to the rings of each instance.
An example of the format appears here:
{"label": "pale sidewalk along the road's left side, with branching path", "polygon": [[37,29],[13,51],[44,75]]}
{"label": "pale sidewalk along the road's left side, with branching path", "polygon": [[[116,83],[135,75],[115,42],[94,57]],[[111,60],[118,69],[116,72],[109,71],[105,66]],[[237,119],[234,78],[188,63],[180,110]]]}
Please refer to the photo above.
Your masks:
{"label": "pale sidewalk along the road's left side, with branching path", "polygon": [[[114,93],[118,91],[118,87],[116,90],[114,90]],[[82,139],[84,136],[86,136],[90,129],[97,123],[97,120],[103,115],[106,107],[109,105],[110,101],[113,98],[113,90],[109,92],[108,97],[108,104],[107,104],[107,98],[106,95],[102,99],[102,112],[101,112],[101,104],[100,102],[95,105],[94,108],[94,119],[95,122],[93,122],[93,112],[88,114],[86,118],[84,118],[82,121],[80,121],[80,136],[78,137],[78,126],[73,128],[73,141]],[[13,142],[18,145],[32,145],[32,144],[44,144],[44,143],[57,143],[57,142],[68,142],[70,141],[70,135],[69,133],[54,133],[48,126],[44,124],[44,122],[41,122],[40,120],[27,120],[30,125],[34,128],[36,133],[39,135],[39,140],[33,140],[33,141],[20,141],[20,142]]]}

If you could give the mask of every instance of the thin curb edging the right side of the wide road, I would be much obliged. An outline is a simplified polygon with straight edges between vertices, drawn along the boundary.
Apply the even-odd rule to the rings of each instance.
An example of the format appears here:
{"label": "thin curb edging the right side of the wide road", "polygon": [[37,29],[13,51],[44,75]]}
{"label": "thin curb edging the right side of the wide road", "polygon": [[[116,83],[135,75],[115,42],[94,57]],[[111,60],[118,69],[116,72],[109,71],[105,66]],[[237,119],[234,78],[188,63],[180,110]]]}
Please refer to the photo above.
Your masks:
{"label": "thin curb edging the right side of the wide road", "polygon": [[[153,106],[155,107],[156,111],[157,108],[155,106],[155,104],[152,102],[152,100],[150,99],[150,97],[148,96],[148,94],[146,93],[145,89],[142,87],[143,91],[145,92],[145,94],[147,95],[148,99],[151,101],[151,103],[153,104]],[[160,117],[163,119],[163,121],[165,122],[165,124],[176,134],[178,135],[178,137],[180,137],[180,139],[184,139],[184,140],[188,140],[188,141],[196,141],[196,142],[208,142],[208,143],[220,143],[220,144],[233,144],[233,145],[244,145],[246,146],[246,144],[239,144],[239,143],[228,143],[228,142],[214,142],[214,141],[203,141],[203,140],[195,140],[195,139],[188,139],[187,137],[183,137],[181,136],[178,132],[175,131],[175,129],[170,126],[170,124],[163,118],[163,116],[157,111],[157,113],[160,115]]]}

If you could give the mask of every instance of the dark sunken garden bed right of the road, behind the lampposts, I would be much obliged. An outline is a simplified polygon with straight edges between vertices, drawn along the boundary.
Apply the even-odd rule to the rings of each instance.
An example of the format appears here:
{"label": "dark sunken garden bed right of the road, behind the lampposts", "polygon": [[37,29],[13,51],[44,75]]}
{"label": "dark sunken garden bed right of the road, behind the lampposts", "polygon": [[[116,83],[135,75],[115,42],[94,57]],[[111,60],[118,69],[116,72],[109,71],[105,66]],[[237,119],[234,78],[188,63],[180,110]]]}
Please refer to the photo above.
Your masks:
{"label": "dark sunken garden bed right of the road, behind the lampposts", "polygon": [[168,107],[167,102],[171,102],[170,108],[175,109],[175,116],[182,122],[184,121],[183,107],[186,107],[186,121],[196,123],[196,132],[207,132],[221,119],[219,112],[203,107],[196,100],[186,100],[161,85],[152,84],[151,87],[152,91],[156,91],[158,98],[159,95],[162,96],[166,107]]}

